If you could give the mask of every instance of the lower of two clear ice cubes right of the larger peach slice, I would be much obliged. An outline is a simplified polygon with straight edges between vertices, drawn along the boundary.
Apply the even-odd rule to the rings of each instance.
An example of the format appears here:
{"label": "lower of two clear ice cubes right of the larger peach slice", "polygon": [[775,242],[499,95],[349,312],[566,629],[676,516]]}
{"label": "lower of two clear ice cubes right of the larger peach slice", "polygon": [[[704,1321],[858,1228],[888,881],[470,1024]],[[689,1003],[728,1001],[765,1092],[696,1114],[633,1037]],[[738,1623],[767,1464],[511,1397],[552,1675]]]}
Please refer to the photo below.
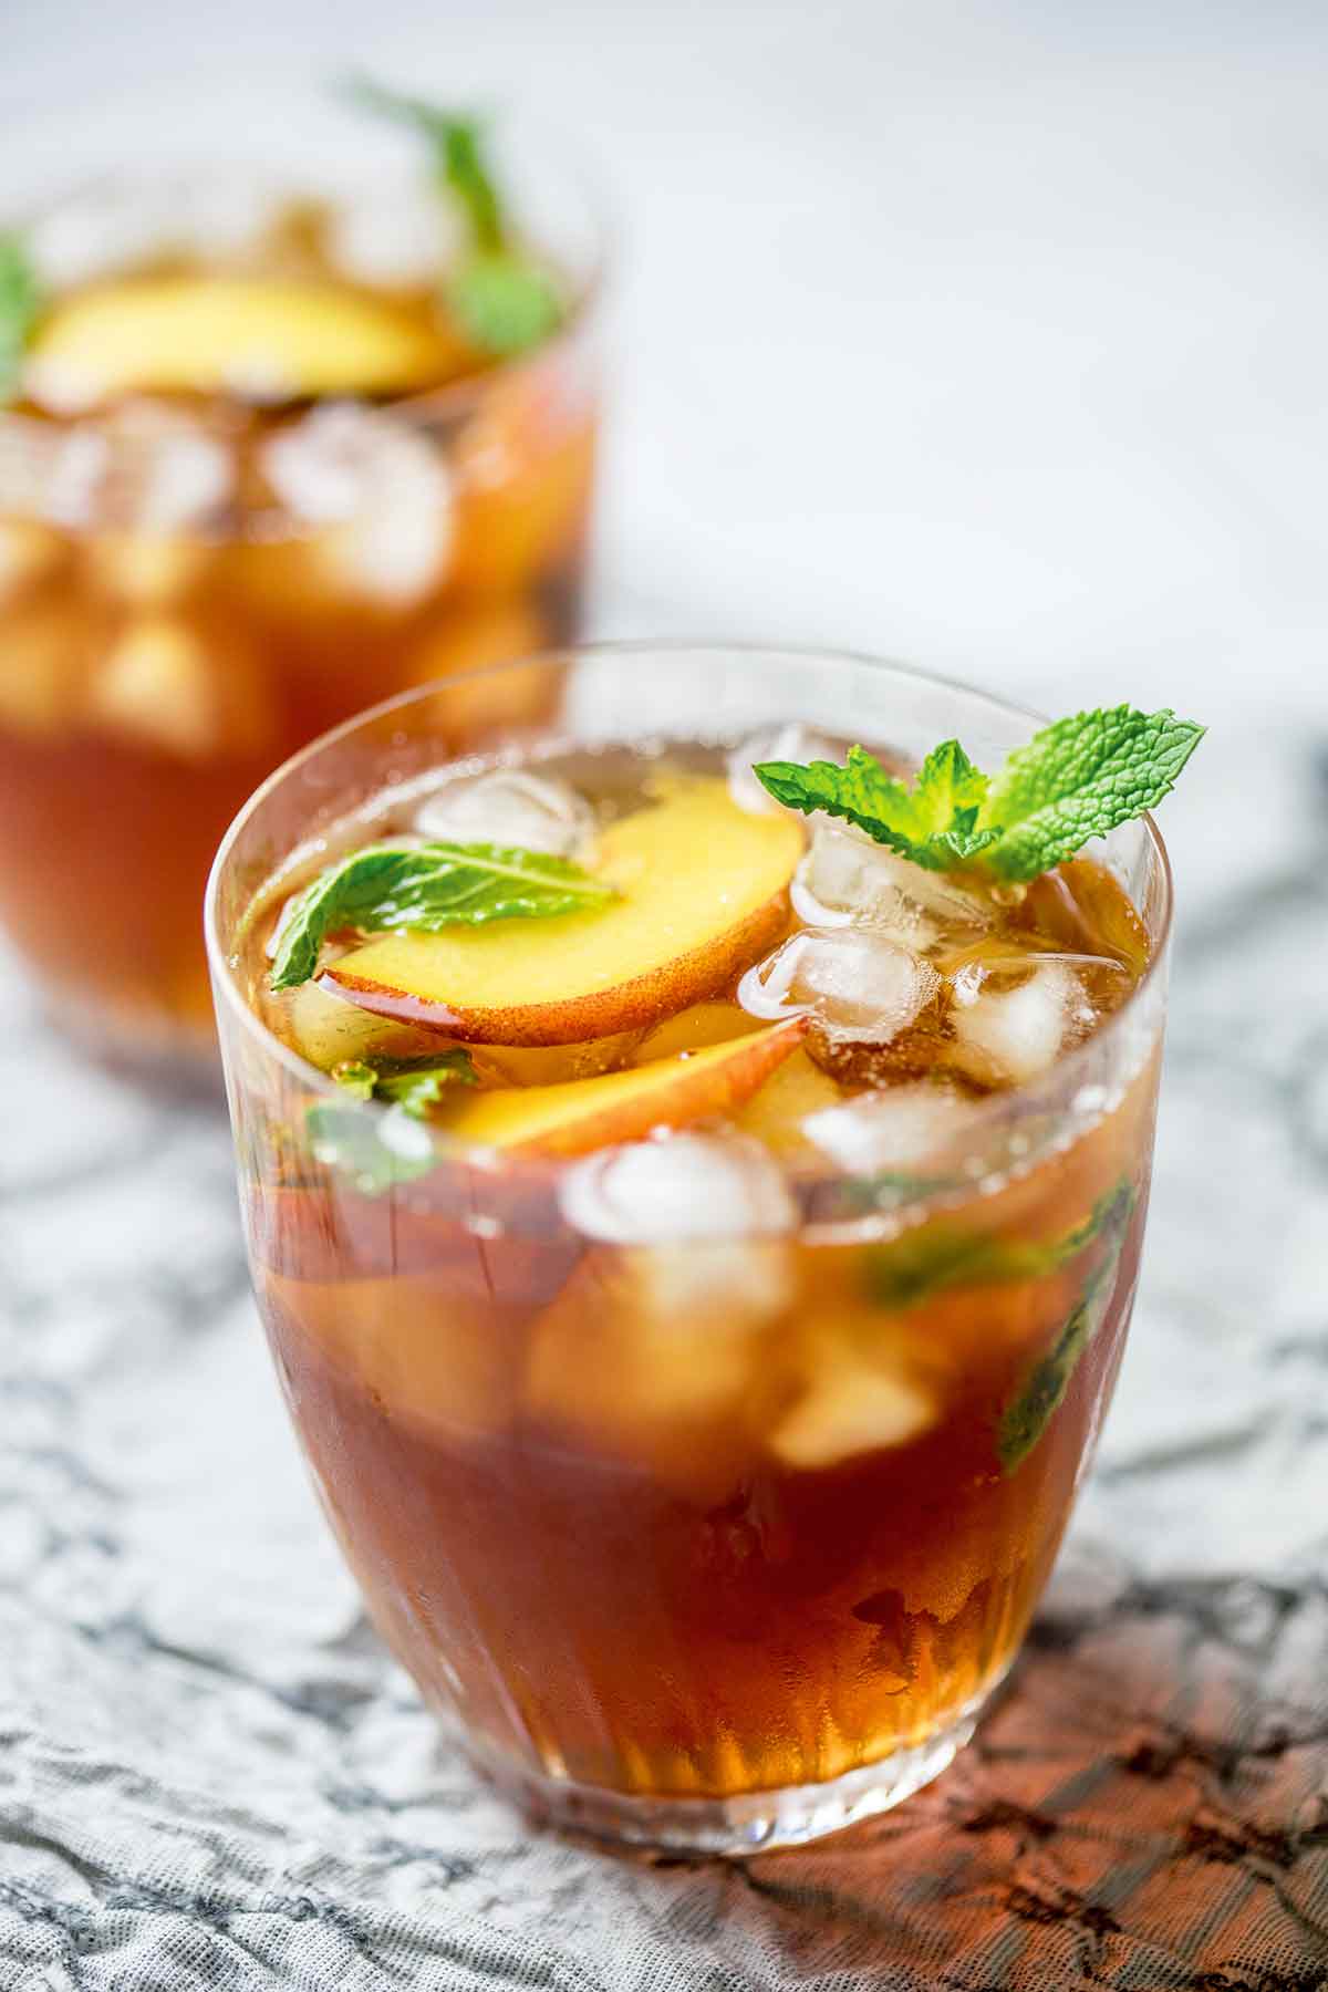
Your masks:
{"label": "lower of two clear ice cubes right of the larger peach slice", "polygon": [[810,1016],[838,1044],[890,1044],[940,990],[930,962],[870,928],[806,928],[739,982],[753,1016]]}

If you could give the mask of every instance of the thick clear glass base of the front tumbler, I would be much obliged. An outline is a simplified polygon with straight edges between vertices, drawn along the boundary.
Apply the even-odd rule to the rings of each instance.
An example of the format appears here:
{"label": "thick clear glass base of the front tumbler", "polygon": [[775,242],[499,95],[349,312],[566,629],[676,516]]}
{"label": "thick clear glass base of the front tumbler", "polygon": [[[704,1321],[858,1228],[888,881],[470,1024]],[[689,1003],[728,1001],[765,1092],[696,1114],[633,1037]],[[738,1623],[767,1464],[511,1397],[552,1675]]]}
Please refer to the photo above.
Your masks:
{"label": "thick clear glass base of the front tumbler", "polygon": [[[922,1791],[964,1749],[988,1697],[970,1703],[948,1729],[892,1751],[878,1763],[844,1771],[820,1785],[786,1785],[778,1791],[745,1791],[733,1799],[657,1799],[555,1777],[536,1777],[480,1757],[488,1775],[528,1813],[553,1827],[589,1833],[627,1847],[655,1847],[673,1855],[745,1855],[773,1847],[802,1847],[840,1833],[858,1819],[888,1813]],[[474,1745],[472,1745],[474,1747]]]}

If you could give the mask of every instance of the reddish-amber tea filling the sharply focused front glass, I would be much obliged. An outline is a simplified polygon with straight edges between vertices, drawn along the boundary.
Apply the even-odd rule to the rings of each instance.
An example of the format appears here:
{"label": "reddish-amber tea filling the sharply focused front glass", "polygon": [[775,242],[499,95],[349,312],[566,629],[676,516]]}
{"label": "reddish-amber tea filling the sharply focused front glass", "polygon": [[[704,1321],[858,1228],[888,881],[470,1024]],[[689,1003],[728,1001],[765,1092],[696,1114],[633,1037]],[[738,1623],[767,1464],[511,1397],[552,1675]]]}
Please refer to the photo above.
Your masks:
{"label": "reddish-amber tea filling the sharply focused front glass", "polygon": [[[1001,944],[1033,928],[1129,960],[1117,1000],[1139,972],[1097,867],[1011,908]],[[555,1167],[366,1197],[279,1159],[249,1205],[279,1372],[428,1699],[498,1769],[653,1797],[832,1779],[962,1723],[1011,1663],[1111,1394],[1155,1082],[1151,1060],[1071,1147],[922,1233],[741,1245],[737,1287],[721,1243],[579,1237]],[[1121,1223],[1085,1229],[1113,1195]],[[920,1237],[992,1251],[908,1289]],[[767,1279],[778,1299],[735,1325]],[[916,1392],[918,1428],[824,1462],[780,1446],[844,1378],[854,1402]]]}

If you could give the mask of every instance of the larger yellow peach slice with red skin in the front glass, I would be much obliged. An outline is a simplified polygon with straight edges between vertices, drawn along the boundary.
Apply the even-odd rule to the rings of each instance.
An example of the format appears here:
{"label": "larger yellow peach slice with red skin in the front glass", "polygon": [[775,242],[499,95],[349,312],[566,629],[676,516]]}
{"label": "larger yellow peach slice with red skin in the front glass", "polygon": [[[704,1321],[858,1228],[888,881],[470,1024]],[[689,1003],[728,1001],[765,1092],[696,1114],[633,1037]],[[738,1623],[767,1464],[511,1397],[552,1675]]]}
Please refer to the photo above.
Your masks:
{"label": "larger yellow peach slice with red skin in the front glass", "polygon": [[327,978],[364,1010],[478,1044],[579,1044],[715,996],[784,930],[802,853],[792,817],[753,817],[693,781],[609,825],[619,898],[557,920],[390,934]]}

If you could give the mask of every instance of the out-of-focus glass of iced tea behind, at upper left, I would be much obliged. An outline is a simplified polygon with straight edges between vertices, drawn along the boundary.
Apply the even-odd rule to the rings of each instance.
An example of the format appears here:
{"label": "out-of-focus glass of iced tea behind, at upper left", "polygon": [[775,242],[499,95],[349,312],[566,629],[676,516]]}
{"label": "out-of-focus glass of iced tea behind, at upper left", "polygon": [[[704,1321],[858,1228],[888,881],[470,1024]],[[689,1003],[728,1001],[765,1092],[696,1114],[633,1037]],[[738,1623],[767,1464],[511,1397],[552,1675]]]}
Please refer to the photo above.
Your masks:
{"label": "out-of-focus glass of iced tea behind, at upper left", "polygon": [[273,767],[577,629],[601,235],[540,133],[492,157],[563,297],[510,355],[440,305],[458,229],[424,167],[100,181],[20,229],[42,299],[0,406],[0,922],[119,1064],[215,1080],[197,906]]}

